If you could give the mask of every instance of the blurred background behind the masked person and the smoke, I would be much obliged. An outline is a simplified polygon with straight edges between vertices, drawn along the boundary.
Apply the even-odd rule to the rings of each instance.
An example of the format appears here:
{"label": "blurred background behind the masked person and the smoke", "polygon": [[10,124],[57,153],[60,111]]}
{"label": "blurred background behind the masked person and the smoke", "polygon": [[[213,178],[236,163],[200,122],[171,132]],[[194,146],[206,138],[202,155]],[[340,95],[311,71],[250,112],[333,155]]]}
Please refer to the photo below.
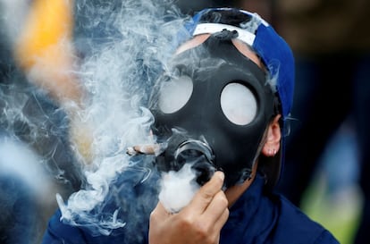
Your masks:
{"label": "blurred background behind the masked person and the smoke", "polygon": [[[111,2],[119,11],[124,0]],[[89,161],[92,135],[76,116],[83,88],[74,73],[65,71],[88,52],[88,42],[79,41],[94,38],[81,26],[100,21],[98,29],[109,20],[109,13],[94,20],[88,9],[80,11],[84,3],[0,0],[1,243],[39,243],[57,207],[55,194],[68,198],[84,181],[79,162]],[[94,0],[89,6],[104,4]],[[278,191],[342,244],[366,243],[370,2],[173,4],[183,14],[237,6],[261,15],[287,40],[297,59],[297,85]]]}

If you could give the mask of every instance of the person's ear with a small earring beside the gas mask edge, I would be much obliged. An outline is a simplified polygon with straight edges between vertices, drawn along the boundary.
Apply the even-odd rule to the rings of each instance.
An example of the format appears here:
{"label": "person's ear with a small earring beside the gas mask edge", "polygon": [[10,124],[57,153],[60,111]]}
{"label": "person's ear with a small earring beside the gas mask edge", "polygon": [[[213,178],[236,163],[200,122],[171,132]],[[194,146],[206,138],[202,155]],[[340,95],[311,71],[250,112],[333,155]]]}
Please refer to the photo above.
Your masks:
{"label": "person's ear with a small earring beside the gas mask edge", "polygon": [[282,131],[280,130],[279,120],[281,114],[276,115],[273,121],[270,122],[265,139],[265,145],[262,148],[262,153],[265,156],[275,156],[280,149],[280,139],[282,139]]}

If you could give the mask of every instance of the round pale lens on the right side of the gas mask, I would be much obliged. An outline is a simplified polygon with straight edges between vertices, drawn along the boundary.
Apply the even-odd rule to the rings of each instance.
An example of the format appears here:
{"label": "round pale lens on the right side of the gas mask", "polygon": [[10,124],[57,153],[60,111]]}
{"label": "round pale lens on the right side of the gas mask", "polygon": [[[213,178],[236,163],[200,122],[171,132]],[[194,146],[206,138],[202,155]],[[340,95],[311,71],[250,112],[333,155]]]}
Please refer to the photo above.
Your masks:
{"label": "round pale lens on the right side of the gas mask", "polygon": [[221,108],[230,122],[246,125],[256,117],[256,97],[246,86],[230,83],[223,88]]}

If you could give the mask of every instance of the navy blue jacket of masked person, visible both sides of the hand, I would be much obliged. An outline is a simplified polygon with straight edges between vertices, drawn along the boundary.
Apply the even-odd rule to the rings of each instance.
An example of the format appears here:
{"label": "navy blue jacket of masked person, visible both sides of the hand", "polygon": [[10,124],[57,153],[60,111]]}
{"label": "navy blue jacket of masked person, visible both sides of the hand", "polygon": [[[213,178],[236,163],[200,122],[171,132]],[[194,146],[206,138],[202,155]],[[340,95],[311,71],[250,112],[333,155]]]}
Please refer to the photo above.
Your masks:
{"label": "navy blue jacket of masked person, visible both sides of the hand", "polygon": [[[281,243],[339,244],[329,231],[310,220],[298,208],[278,195],[261,194],[265,179],[258,176],[247,192],[231,207],[221,232],[221,244]],[[113,236],[93,237],[87,230],[60,222],[60,212],[51,218],[43,244],[49,243],[147,243],[148,219],[138,231],[123,227]],[[130,237],[140,237],[130,240]]]}

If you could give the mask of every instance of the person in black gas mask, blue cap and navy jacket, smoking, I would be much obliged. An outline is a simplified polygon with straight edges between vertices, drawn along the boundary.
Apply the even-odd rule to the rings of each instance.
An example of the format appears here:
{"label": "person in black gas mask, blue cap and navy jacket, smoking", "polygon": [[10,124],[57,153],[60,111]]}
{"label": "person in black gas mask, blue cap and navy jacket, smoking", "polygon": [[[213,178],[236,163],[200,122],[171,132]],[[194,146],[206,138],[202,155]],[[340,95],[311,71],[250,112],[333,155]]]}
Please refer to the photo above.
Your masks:
{"label": "person in black gas mask, blue cap and navy jacket, smoking", "polygon": [[[237,9],[206,9],[187,29],[179,38],[188,41],[158,80],[149,108],[153,133],[167,144],[157,168],[192,164],[203,186],[175,211],[160,201],[148,240],[138,243],[338,243],[273,194],[294,85],[290,47],[258,15]],[[124,242],[118,233],[91,237],[60,216],[49,223],[44,243]],[[135,234],[147,231],[146,217],[142,223]]]}

